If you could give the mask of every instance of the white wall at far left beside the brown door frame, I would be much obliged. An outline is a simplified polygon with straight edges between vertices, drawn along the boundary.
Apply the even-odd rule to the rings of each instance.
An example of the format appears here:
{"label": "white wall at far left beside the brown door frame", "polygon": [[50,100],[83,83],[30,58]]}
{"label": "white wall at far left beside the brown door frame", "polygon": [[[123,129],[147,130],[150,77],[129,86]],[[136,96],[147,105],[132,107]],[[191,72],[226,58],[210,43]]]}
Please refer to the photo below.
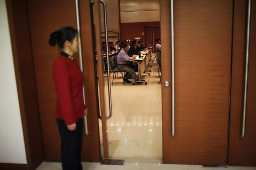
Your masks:
{"label": "white wall at far left beside the brown door frame", "polygon": [[0,37],[0,163],[27,164],[5,0]]}

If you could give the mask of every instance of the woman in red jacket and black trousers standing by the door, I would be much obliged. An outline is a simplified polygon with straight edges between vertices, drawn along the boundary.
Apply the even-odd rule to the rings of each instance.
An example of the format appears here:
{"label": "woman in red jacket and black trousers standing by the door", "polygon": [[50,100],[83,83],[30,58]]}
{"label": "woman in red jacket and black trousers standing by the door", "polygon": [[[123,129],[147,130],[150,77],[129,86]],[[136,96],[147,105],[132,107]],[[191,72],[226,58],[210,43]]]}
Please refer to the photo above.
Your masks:
{"label": "woman in red jacket and black trousers standing by the door", "polygon": [[83,75],[72,55],[78,51],[78,32],[63,27],[50,34],[49,44],[58,44],[59,57],[53,64],[53,80],[57,95],[55,116],[61,138],[63,170],[81,170],[83,116]]}

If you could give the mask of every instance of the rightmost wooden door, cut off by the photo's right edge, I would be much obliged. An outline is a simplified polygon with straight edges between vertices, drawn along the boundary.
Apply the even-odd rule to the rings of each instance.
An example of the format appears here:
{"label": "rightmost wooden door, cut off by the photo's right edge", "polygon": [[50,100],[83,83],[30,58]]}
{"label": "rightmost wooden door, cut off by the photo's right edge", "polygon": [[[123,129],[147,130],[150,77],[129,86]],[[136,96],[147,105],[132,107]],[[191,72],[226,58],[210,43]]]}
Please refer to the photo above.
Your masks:
{"label": "rightmost wooden door, cut off by the photo's right edge", "polygon": [[[253,1],[255,2],[255,1]],[[235,0],[228,164],[256,166],[256,4],[251,3],[250,49],[245,136],[239,137],[243,114],[247,1]]]}

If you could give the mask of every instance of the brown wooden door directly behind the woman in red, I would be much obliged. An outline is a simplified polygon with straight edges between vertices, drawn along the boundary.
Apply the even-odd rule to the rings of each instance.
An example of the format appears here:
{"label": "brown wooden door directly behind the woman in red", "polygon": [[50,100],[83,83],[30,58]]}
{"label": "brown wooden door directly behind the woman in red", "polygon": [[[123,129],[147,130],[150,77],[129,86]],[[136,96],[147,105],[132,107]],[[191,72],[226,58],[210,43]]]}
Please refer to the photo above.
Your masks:
{"label": "brown wooden door directly behind the woman in red", "polygon": [[[50,33],[63,26],[77,28],[74,0],[28,0],[33,61],[46,160],[60,160],[60,135],[54,114],[56,95],[52,66],[60,51],[48,45]],[[101,160],[96,104],[96,84],[90,24],[90,1],[80,0],[81,45],[83,54],[87,122],[90,136],[83,136],[82,161]],[[78,54],[75,54],[78,61]]]}

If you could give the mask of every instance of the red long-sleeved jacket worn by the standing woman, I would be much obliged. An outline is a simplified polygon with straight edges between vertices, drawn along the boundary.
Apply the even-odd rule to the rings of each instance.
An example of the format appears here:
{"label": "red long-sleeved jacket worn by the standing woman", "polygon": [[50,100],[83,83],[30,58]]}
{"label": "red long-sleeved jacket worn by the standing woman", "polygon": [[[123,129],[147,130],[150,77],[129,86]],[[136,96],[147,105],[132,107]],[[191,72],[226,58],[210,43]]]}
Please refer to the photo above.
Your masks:
{"label": "red long-sleeved jacket worn by the standing woman", "polygon": [[[66,56],[66,57],[65,57]],[[84,115],[83,75],[75,60],[62,52],[53,64],[53,80],[57,95],[55,116],[66,125],[74,124]]]}

